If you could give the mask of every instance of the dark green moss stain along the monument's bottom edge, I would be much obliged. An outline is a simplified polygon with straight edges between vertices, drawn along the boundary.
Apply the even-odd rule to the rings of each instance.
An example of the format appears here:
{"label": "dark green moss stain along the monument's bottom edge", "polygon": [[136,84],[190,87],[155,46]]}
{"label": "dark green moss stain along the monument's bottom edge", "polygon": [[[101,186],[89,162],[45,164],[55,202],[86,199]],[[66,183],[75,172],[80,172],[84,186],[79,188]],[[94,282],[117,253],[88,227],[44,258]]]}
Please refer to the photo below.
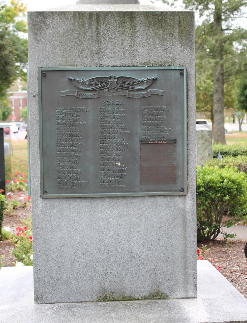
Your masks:
{"label": "dark green moss stain along the monument's bottom edge", "polygon": [[106,289],[95,299],[96,302],[112,302],[112,301],[128,301],[128,300],[147,300],[147,299],[167,299],[167,294],[163,293],[157,288],[153,293],[149,293],[143,297],[135,297],[133,295],[116,294],[115,292],[109,292]]}

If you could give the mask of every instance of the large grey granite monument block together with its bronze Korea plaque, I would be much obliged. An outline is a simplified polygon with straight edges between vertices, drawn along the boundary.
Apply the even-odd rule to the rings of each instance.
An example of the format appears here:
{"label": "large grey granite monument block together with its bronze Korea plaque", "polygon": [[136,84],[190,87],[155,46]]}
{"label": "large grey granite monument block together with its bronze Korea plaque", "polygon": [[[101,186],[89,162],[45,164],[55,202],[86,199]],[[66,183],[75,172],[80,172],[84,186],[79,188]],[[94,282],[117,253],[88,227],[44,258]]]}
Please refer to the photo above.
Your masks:
{"label": "large grey granite monument block together with its bronze Korea plaque", "polygon": [[[28,12],[28,55],[35,303],[196,297],[194,13],[131,4]],[[162,74],[169,71],[163,67],[171,74]],[[154,83],[143,89],[150,78]],[[129,97],[144,92],[151,94]],[[123,105],[115,102],[121,93]],[[111,131],[114,102],[127,112]],[[103,106],[106,123],[99,119]],[[145,107],[158,118],[142,120]],[[131,135],[118,137],[116,125],[123,124]],[[131,144],[113,165],[109,149],[127,135]],[[102,187],[100,176],[112,181],[120,168],[119,185]]]}

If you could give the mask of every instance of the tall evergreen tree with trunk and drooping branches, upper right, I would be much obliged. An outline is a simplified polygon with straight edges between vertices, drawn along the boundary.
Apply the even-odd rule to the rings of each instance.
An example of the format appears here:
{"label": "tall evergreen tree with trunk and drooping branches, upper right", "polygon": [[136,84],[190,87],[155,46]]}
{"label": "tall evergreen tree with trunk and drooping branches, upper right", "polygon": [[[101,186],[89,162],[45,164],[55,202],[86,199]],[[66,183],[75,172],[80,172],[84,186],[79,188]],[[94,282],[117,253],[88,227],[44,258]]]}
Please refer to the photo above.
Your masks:
{"label": "tall evergreen tree with trunk and drooping branches, upper right", "polygon": [[[176,1],[176,0],[175,0]],[[246,69],[247,32],[236,26],[247,0],[183,0],[185,8],[206,19],[196,28],[197,73],[212,71],[214,142],[225,143],[224,84]],[[210,73],[208,73],[210,74]]]}

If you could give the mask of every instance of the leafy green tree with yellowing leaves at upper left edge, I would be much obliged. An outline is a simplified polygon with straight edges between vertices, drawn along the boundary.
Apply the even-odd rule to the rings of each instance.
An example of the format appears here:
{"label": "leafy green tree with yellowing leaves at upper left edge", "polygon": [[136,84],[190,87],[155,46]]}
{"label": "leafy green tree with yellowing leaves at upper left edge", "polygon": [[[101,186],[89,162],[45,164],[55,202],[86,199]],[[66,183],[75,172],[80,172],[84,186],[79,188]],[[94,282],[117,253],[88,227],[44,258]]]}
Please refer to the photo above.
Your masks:
{"label": "leafy green tree with yellowing leaves at upper left edge", "polygon": [[20,36],[27,33],[25,12],[19,0],[10,5],[0,0],[0,98],[16,78],[26,77],[27,39]]}

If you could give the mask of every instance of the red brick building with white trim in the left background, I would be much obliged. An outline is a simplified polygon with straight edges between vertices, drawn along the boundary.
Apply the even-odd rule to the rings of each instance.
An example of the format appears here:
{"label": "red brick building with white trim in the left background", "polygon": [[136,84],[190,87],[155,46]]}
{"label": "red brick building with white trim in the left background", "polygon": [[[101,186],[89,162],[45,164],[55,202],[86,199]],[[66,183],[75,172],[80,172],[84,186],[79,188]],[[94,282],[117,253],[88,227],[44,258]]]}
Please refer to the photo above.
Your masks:
{"label": "red brick building with white trim in the left background", "polygon": [[8,117],[9,121],[22,121],[20,109],[27,107],[27,91],[11,91],[9,95],[9,106],[12,107],[12,115]]}

